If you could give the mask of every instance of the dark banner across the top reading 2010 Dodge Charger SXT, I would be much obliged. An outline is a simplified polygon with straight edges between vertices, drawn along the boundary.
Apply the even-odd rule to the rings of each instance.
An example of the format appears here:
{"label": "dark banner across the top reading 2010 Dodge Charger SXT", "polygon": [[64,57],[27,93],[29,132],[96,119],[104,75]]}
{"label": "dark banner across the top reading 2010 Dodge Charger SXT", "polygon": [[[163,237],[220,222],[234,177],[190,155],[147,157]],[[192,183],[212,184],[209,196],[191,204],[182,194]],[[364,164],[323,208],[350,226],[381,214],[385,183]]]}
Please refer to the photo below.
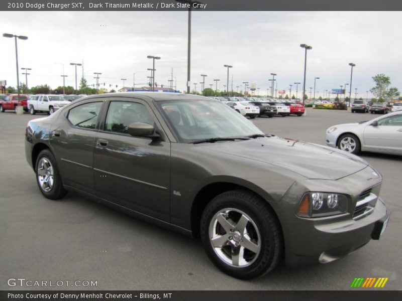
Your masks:
{"label": "dark banner across the top reading 2010 Dodge Charger SXT", "polygon": [[401,11],[395,0],[6,0],[1,11]]}

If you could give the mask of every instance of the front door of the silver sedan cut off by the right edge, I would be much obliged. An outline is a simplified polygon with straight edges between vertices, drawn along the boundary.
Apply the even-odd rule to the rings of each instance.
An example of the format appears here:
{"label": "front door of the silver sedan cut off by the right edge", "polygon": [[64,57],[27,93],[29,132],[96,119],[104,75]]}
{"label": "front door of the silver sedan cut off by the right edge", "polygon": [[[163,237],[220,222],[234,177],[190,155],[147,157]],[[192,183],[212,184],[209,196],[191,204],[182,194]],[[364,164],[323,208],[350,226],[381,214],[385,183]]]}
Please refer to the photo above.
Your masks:
{"label": "front door of the silver sedan cut off by the right edge", "polygon": [[402,153],[402,115],[386,116],[364,129],[367,150]]}

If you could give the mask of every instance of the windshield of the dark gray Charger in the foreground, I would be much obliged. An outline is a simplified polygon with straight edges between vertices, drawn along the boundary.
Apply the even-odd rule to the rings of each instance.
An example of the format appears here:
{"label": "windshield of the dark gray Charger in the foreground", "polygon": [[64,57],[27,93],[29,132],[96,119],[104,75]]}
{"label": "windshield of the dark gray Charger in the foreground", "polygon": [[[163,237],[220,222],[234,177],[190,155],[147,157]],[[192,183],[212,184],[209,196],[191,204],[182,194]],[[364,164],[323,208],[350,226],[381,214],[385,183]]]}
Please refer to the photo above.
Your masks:
{"label": "windshield of the dark gray Charger in the foreground", "polygon": [[221,102],[183,99],[156,104],[181,142],[263,134],[251,121]]}

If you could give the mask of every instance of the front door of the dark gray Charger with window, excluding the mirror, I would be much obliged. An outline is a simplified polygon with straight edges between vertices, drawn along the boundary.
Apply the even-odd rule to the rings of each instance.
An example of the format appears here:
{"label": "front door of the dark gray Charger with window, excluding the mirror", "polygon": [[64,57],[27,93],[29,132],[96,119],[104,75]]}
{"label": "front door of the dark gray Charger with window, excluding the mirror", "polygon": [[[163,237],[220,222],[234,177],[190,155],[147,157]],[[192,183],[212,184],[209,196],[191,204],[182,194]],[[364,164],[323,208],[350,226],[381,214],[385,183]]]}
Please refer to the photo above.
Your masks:
{"label": "front door of the dark gray Charger with window, excluding the mirror", "polygon": [[98,197],[159,220],[169,221],[170,142],[134,137],[132,122],[161,128],[151,107],[135,98],[111,98],[94,148]]}

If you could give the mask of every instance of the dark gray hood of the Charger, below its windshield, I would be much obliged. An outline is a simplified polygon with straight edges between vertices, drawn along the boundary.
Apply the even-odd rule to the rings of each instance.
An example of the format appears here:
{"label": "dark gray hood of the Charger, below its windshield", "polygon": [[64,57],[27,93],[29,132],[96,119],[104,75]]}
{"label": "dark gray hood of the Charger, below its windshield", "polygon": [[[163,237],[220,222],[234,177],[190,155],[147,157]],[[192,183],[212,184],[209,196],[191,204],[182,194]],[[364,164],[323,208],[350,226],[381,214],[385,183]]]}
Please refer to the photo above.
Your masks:
{"label": "dark gray hood of the Charger, below its windshield", "polygon": [[368,166],[359,157],[338,149],[277,136],[203,146],[239,160],[246,158],[278,166],[308,179],[338,180]]}

